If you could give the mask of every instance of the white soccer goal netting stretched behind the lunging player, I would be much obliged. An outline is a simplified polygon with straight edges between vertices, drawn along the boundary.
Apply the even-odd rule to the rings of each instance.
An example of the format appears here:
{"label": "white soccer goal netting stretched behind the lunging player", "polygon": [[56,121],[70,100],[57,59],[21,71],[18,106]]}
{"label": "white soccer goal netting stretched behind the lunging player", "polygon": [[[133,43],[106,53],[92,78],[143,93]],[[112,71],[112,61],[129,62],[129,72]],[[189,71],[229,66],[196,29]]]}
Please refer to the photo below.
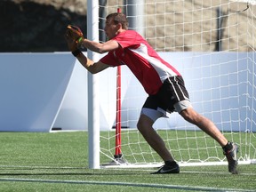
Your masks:
{"label": "white soccer goal netting stretched behind the lunging player", "polygon": [[[238,144],[239,164],[256,163],[255,1],[102,0],[96,6],[99,14],[94,20],[100,21],[101,42],[107,41],[105,17],[120,8],[128,17],[130,28],[178,68],[196,111],[210,118],[228,140]],[[104,167],[163,164],[136,129],[147,94],[128,68],[121,67],[117,81],[116,68],[107,70],[104,76],[109,84],[99,89],[100,95],[104,94],[104,99],[99,100],[105,102],[111,114],[114,108],[113,116],[118,118],[108,130],[100,131],[100,139],[89,143],[89,148],[93,150],[93,142],[100,140],[100,156],[96,157]],[[115,111],[116,107],[121,108]],[[98,121],[95,124],[100,118],[93,119]],[[154,128],[180,166],[228,164],[220,145],[177,113],[157,120]]]}

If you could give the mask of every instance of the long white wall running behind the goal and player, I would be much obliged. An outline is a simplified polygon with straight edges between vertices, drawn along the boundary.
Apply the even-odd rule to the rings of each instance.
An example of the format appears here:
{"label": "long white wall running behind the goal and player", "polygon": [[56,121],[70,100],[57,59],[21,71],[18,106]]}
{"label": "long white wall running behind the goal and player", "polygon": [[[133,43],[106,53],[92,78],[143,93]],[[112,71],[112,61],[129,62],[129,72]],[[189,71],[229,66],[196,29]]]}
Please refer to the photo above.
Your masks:
{"label": "long white wall running behind the goal and player", "polygon": [[[220,130],[255,129],[255,53],[160,52],[184,76],[199,113]],[[116,68],[100,78],[100,129],[116,119]],[[135,128],[147,98],[128,68],[122,67],[122,126]],[[69,53],[0,54],[0,131],[49,132],[87,129],[87,71]],[[194,129],[178,114],[155,127]]]}

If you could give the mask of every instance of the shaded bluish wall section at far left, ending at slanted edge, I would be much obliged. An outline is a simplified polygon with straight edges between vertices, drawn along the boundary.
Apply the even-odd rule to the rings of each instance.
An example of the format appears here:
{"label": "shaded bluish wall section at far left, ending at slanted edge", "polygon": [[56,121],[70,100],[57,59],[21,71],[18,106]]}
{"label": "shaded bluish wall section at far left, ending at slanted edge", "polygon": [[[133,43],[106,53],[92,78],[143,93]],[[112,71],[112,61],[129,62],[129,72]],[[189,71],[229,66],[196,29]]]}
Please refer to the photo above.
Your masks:
{"label": "shaded bluish wall section at far left, ending at slanted edge", "polygon": [[49,132],[75,59],[68,54],[0,54],[0,131]]}

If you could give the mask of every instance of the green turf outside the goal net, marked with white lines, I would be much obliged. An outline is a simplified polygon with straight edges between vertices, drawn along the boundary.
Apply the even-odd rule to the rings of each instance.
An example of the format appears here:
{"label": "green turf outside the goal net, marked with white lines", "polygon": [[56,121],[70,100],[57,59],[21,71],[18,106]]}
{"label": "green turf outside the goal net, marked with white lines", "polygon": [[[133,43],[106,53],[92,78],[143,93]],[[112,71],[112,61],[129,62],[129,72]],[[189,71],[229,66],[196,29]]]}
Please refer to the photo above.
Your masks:
{"label": "green turf outside the goal net, marked with white lines", "polygon": [[87,132],[1,132],[0,191],[254,191],[256,164],[148,169],[88,169]]}

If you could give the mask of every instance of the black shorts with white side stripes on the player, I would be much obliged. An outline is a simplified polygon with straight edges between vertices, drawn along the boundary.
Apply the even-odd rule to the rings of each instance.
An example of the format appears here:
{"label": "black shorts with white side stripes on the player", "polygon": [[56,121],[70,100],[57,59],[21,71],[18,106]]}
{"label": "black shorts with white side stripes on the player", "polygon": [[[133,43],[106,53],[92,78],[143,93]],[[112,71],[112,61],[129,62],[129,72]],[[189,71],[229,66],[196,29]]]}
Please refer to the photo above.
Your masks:
{"label": "black shorts with white side stripes on the player", "polygon": [[182,76],[170,76],[164,81],[159,92],[148,96],[142,108],[172,113],[175,111],[174,105],[182,100],[189,101],[184,80]]}

